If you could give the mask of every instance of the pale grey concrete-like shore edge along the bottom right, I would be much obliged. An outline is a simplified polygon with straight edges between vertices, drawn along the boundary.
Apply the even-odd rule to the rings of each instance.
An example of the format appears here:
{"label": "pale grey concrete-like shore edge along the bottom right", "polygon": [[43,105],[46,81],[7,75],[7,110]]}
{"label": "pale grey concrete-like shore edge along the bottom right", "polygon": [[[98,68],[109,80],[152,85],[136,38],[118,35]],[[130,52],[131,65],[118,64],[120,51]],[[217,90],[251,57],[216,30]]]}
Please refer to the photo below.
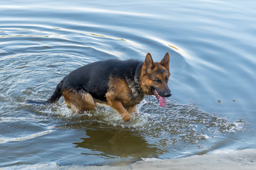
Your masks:
{"label": "pale grey concrete-like shore edge along the bottom right", "polygon": [[64,167],[42,166],[36,169],[256,169],[256,150],[240,150],[229,154],[196,155],[179,159],[146,159],[129,165]]}

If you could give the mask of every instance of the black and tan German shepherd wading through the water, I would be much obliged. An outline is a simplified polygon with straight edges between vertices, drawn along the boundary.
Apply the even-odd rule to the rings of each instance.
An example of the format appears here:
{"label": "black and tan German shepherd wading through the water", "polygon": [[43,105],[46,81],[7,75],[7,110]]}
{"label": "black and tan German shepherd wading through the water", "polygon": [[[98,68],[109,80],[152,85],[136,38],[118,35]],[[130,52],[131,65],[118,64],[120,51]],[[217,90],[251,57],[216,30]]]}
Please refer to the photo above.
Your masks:
{"label": "black and tan German shepherd wading through the water", "polygon": [[171,96],[168,88],[170,57],[166,53],[161,62],[154,62],[147,53],[144,62],[129,59],[108,59],[89,63],[73,70],[55,89],[47,101],[26,100],[25,103],[52,104],[61,96],[75,112],[90,111],[97,104],[105,104],[121,114],[124,121],[131,119],[145,95],[155,95],[161,107]]}

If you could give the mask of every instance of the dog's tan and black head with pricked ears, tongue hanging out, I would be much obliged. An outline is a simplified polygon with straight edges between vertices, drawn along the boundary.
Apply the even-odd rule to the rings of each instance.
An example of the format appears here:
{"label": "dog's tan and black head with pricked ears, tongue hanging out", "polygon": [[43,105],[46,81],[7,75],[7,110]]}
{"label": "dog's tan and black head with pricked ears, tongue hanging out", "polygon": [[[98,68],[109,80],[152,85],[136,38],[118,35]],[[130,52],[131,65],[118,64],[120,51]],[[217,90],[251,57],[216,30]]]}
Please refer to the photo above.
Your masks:
{"label": "dog's tan and black head with pricked ears, tongue hanging out", "polygon": [[171,90],[168,87],[170,77],[170,56],[168,53],[161,62],[154,62],[150,53],[147,53],[142,66],[140,84],[146,95],[155,95],[161,107],[166,105],[166,97],[170,97]]}

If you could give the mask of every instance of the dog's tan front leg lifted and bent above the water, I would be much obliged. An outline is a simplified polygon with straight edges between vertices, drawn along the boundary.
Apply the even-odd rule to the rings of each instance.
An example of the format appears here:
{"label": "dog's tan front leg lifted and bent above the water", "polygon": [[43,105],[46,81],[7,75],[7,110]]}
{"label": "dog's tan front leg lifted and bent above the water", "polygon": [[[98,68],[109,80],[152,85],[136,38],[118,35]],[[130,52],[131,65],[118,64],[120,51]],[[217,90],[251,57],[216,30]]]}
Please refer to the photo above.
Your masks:
{"label": "dog's tan front leg lifted and bent above the water", "polygon": [[131,120],[131,114],[128,111],[126,111],[121,101],[108,100],[108,103],[110,107],[114,108],[119,114],[121,114],[124,121],[127,122]]}

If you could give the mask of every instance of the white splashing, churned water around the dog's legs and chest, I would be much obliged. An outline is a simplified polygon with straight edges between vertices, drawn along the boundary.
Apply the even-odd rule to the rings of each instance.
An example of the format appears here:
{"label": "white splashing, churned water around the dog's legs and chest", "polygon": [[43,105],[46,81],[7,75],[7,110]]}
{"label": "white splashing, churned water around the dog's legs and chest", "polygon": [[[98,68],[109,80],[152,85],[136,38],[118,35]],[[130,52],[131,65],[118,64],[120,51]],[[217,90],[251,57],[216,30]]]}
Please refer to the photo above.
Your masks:
{"label": "white splashing, churned water around the dog's legs and chest", "polygon": [[151,138],[160,147],[195,144],[216,137],[220,133],[239,133],[248,123],[238,119],[234,122],[215,113],[201,111],[198,104],[179,104],[168,99],[165,108],[160,108],[155,97],[147,96],[137,107],[131,121],[124,122],[121,116],[108,107],[98,107],[90,112],[73,113],[65,104],[53,105],[40,111],[60,118],[61,129],[105,129],[132,131],[135,135]]}

